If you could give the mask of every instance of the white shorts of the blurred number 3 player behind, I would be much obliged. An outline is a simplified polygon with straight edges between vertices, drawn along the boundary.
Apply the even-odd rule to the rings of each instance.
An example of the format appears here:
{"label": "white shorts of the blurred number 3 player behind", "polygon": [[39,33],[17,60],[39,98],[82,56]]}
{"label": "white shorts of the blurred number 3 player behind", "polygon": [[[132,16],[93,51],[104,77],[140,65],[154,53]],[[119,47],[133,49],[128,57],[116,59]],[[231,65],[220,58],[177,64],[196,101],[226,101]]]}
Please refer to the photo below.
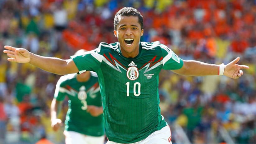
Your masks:
{"label": "white shorts of the blurred number 3 player behind", "polygon": [[104,144],[105,136],[93,137],[74,131],[64,131],[66,144]]}

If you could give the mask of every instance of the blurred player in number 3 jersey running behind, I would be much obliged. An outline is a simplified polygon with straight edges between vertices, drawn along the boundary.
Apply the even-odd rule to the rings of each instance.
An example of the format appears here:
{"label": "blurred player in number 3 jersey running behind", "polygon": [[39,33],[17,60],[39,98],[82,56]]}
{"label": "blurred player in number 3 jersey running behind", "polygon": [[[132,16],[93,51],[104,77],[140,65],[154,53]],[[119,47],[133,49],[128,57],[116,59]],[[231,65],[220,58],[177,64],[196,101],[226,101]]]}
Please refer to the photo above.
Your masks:
{"label": "blurred player in number 3 jersey running behind", "polygon": [[[81,49],[75,55],[82,52],[85,50]],[[62,125],[62,120],[57,119],[57,111],[60,111],[65,96],[69,98],[64,131],[66,144],[103,144],[103,108],[97,74],[86,71],[67,74],[58,80],[51,104],[54,131]]]}

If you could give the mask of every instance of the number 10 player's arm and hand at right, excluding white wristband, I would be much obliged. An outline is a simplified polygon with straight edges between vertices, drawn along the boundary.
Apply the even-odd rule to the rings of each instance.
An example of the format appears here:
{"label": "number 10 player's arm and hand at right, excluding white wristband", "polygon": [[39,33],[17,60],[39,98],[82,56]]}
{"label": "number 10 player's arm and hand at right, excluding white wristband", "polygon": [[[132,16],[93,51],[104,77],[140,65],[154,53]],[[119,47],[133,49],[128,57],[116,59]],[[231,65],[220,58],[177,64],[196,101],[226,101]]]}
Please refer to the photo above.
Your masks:
{"label": "number 10 player's arm and hand at right, excluding white wristband", "polygon": [[[240,57],[237,57],[227,65],[225,65],[224,75],[233,79],[241,77],[244,73],[241,69],[249,69],[247,65],[238,65],[236,64],[240,60]],[[183,66],[179,70],[172,70],[173,72],[181,75],[190,75],[190,76],[205,76],[205,75],[218,75],[219,66],[216,64],[208,64],[201,61],[194,60],[183,60]]]}

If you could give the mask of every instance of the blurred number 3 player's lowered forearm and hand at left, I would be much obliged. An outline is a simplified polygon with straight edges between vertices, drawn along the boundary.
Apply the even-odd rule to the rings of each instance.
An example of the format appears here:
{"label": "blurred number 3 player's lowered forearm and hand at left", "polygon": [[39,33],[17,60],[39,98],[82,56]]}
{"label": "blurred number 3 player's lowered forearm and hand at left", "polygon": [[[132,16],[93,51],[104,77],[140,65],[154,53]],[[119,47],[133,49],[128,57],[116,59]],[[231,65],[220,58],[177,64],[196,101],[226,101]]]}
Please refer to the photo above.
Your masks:
{"label": "blurred number 3 player's lowered forearm and hand at left", "polygon": [[51,103],[51,126],[54,131],[57,131],[62,126],[62,120],[57,119],[57,115],[62,107],[62,102],[53,98]]}

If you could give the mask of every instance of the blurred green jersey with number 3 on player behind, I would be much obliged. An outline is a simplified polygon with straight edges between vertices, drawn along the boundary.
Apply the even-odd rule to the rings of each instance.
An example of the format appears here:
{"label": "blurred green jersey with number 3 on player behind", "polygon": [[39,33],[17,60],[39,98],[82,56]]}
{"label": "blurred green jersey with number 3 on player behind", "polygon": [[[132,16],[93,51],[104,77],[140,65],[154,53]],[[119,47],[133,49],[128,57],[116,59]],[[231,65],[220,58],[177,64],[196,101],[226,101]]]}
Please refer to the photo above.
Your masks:
{"label": "blurred green jersey with number 3 on player behind", "polygon": [[77,74],[62,76],[57,84],[54,97],[68,100],[65,130],[75,131],[90,136],[103,136],[103,115],[94,117],[86,112],[88,105],[102,106],[97,74],[91,73],[87,82],[78,82]]}

